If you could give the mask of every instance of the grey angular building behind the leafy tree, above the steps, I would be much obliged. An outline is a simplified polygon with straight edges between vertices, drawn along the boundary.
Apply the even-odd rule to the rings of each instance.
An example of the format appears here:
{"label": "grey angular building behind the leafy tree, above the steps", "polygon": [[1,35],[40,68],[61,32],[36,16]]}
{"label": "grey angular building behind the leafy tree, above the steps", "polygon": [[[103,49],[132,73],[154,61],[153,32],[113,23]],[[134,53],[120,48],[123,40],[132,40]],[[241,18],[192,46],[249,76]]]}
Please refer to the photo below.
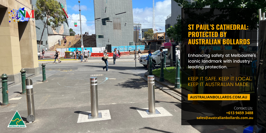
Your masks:
{"label": "grey angular building behind the leafy tree, above the steps", "polygon": [[[37,0],[31,0],[30,3],[36,7],[36,1]],[[66,5],[66,0],[56,0],[58,3],[65,8],[65,11],[67,12],[67,5]],[[46,29],[44,30],[44,34],[42,36],[42,30],[44,28],[42,20],[35,20],[35,27],[36,27],[36,38],[37,38],[37,48],[39,50],[39,42],[42,36],[42,45],[41,45],[41,50],[42,49],[49,49],[52,47],[52,45],[58,41],[58,39],[61,39],[62,36],[70,35],[69,34],[69,26],[68,26],[68,18],[65,17],[65,22],[56,28],[56,30],[52,30],[51,26],[46,25]],[[44,18],[44,21],[46,18]]]}

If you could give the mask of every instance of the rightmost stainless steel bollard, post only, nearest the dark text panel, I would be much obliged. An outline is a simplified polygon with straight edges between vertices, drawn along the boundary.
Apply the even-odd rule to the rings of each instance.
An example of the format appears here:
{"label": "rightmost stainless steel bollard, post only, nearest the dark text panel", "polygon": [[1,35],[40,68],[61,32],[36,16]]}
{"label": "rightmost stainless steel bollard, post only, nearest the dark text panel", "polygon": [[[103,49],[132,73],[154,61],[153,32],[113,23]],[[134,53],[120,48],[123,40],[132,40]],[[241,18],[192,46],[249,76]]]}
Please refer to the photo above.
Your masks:
{"label": "rightmost stainless steel bollard, post only, nearest the dark text panel", "polygon": [[155,112],[154,84],[154,76],[148,76],[148,100],[150,113]]}

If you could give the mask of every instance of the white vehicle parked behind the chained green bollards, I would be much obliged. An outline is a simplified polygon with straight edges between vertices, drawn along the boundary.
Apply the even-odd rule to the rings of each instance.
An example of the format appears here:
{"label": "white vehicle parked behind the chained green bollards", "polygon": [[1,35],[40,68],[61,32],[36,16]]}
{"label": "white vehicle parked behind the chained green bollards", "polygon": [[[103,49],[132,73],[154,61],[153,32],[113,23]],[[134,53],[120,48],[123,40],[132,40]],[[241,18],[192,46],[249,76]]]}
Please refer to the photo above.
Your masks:
{"label": "white vehicle parked behind the chained green bollards", "polygon": [[[166,56],[165,58],[167,58],[168,57],[167,49],[163,49],[163,51],[165,52],[165,56]],[[175,57],[176,57],[176,60],[177,60],[177,59],[179,59],[180,51],[179,50],[175,50],[175,51],[176,51]],[[161,61],[160,55],[161,55],[160,50],[157,50],[157,51],[151,53],[152,61],[154,63],[159,63]],[[147,57],[148,57],[148,54],[141,56],[140,59],[139,59],[139,63],[142,64],[144,67],[147,67],[147,61],[145,62]],[[166,63],[166,65],[170,65],[170,60],[166,59],[165,63]],[[160,64],[158,64],[158,65],[160,65]]]}

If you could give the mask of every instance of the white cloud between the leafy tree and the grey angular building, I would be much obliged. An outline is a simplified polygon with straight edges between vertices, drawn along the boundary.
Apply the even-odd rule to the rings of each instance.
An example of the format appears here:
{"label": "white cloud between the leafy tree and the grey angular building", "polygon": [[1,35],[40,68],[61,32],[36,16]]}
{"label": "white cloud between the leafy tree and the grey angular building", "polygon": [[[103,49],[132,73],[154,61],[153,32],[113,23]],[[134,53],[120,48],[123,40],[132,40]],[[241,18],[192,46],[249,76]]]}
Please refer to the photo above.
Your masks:
{"label": "white cloud between the leafy tree and the grey angular building", "polygon": [[[68,18],[69,28],[72,28],[76,34],[80,34],[80,14],[69,14]],[[94,20],[94,17],[92,18]],[[85,32],[89,32],[92,34],[95,34],[95,25],[94,21],[87,21],[86,17],[84,15],[81,15],[81,23],[82,23],[82,34]],[[74,26],[74,22],[77,22],[77,27]],[[91,34],[90,34],[91,35]]]}

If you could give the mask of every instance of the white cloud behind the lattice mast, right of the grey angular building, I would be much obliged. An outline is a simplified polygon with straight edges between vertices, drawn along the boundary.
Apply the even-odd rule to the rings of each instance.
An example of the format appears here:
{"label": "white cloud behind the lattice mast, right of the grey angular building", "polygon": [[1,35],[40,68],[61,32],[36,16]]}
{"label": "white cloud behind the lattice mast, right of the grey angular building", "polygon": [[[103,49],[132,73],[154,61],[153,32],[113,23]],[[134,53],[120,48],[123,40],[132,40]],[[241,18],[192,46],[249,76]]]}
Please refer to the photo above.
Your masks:
{"label": "white cloud behind the lattice mast, right of the grey angular building", "polygon": [[[158,32],[165,32],[165,20],[171,14],[171,0],[158,1],[155,3],[155,25]],[[140,21],[141,28],[152,28],[152,7],[145,9],[133,8],[133,20]],[[145,21],[146,20],[146,21]],[[150,23],[148,23],[148,22]],[[145,23],[143,23],[145,22]],[[163,29],[163,30],[159,30]]]}

